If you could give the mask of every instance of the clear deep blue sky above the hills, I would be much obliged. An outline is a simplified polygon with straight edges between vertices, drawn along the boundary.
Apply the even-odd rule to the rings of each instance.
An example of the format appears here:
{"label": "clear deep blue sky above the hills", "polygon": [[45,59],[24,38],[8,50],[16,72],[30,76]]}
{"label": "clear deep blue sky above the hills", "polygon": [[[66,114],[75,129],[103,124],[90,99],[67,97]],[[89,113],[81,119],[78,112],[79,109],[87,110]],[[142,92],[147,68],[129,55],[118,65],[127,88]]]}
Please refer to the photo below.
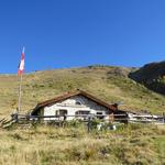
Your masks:
{"label": "clear deep blue sky above the hills", "polygon": [[165,59],[164,0],[2,0],[0,73]]}

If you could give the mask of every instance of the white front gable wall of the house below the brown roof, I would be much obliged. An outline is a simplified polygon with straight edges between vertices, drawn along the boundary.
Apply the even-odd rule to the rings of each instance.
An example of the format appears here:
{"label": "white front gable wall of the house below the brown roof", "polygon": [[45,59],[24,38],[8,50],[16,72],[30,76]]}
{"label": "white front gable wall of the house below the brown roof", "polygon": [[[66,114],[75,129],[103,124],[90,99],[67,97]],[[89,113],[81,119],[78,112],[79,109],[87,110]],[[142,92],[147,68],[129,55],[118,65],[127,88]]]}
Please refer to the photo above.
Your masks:
{"label": "white front gable wall of the house below the brown roof", "polygon": [[[80,105],[76,105],[76,102],[80,102]],[[50,107],[44,108],[44,116],[55,116],[58,110],[67,110],[67,116],[75,116],[76,111],[89,111],[92,114],[97,114],[97,112],[102,112],[102,114],[109,114],[109,109],[96,103],[92,100],[84,96],[75,96],[67,100],[57,102]],[[74,117],[67,117],[67,120],[73,120]],[[46,118],[45,120],[54,120],[53,118]]]}

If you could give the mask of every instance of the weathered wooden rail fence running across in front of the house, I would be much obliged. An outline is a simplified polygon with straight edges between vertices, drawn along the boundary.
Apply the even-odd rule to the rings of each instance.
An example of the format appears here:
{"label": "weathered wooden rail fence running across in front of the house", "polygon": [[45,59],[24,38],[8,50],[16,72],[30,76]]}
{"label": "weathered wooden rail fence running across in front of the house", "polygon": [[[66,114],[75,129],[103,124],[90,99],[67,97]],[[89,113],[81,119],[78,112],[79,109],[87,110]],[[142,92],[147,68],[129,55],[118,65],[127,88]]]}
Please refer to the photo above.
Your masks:
{"label": "weathered wooden rail fence running across in front of the house", "polygon": [[[124,114],[75,114],[75,116],[30,116],[30,114],[18,114],[14,113],[11,116],[10,120],[2,119],[0,120],[0,128],[9,128],[13,123],[18,123],[18,125],[23,125],[24,128],[30,128],[30,124],[41,123],[41,122],[51,122],[54,124],[63,125],[66,123],[68,118],[74,118],[74,120],[79,120],[87,124],[88,132],[91,130],[91,123],[96,119],[101,119],[100,123],[111,123],[111,125],[116,127],[114,122],[122,123],[153,123],[153,124],[164,124],[165,125],[165,116],[138,116],[133,114],[133,118],[129,118],[127,113]],[[98,124],[98,127],[100,127]]]}

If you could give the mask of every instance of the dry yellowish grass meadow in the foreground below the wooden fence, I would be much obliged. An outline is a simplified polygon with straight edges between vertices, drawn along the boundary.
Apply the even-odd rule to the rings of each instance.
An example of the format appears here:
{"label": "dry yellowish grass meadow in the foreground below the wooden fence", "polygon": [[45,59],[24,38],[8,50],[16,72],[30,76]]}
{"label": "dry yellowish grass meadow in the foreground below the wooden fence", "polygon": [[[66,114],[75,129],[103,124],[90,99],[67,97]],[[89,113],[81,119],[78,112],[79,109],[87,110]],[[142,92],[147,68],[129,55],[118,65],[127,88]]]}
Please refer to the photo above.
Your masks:
{"label": "dry yellowish grass meadow in the foreground below the wooden fence", "polygon": [[[0,131],[0,164],[165,164],[165,130],[129,125],[118,131],[36,127]],[[162,147],[160,147],[160,145]]]}

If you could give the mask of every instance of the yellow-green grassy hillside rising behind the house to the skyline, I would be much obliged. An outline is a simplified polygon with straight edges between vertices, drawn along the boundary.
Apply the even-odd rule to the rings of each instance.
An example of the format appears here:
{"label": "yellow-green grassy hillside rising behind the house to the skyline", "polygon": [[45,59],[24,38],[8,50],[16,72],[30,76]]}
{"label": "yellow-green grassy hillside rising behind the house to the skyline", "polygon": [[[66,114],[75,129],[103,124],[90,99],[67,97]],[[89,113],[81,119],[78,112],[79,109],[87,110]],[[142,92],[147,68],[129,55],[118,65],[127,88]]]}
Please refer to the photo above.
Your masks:
{"label": "yellow-green grassy hillside rising behind the house to the skyline", "polygon": [[[123,102],[121,109],[147,110],[161,113],[165,98],[128,78],[132,68],[89,66],[35,72],[23,75],[22,112],[33,109],[37,102],[82,89],[109,103]],[[0,116],[8,116],[18,106],[18,76],[0,76]]]}

